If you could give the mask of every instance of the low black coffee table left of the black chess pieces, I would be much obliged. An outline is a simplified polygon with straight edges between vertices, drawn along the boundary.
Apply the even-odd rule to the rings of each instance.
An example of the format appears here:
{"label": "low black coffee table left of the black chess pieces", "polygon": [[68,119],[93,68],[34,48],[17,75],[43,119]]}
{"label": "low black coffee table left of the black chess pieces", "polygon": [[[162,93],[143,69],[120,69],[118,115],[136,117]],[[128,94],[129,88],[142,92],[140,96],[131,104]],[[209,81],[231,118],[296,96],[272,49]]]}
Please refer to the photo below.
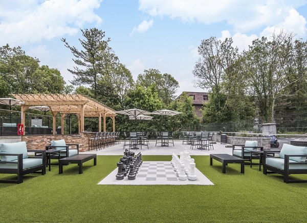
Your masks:
{"label": "low black coffee table left of the black chess pieces", "polygon": [[59,174],[63,173],[63,164],[78,164],[79,174],[83,172],[82,164],[90,159],[94,159],[94,166],[97,165],[97,154],[77,154],[59,160]]}

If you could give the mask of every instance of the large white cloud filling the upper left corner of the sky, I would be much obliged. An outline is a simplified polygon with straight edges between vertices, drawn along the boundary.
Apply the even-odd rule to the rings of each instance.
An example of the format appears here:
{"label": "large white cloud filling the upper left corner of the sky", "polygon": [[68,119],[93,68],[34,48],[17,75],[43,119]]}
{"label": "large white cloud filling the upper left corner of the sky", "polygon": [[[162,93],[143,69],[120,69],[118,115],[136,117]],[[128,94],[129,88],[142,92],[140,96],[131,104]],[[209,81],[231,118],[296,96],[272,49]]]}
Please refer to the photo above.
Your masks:
{"label": "large white cloud filling the upper left corner of the sky", "polygon": [[84,24],[102,22],[94,13],[100,2],[101,0],[10,1],[10,4],[0,7],[0,44],[33,44],[64,34],[73,35]]}

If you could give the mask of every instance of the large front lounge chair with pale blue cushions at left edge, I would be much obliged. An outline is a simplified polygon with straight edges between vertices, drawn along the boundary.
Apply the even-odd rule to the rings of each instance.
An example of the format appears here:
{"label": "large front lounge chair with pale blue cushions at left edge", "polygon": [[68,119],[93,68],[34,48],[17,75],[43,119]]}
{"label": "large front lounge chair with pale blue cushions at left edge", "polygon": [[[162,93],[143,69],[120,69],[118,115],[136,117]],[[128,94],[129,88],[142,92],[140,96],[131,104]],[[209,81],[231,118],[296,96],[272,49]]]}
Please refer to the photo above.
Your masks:
{"label": "large front lounge chair with pale blue cushions at left edge", "polygon": [[[40,157],[28,156],[28,152],[41,152]],[[26,142],[0,144],[0,173],[17,174],[17,180],[0,180],[0,183],[20,184],[24,175],[41,173],[45,175],[45,151],[27,150]]]}

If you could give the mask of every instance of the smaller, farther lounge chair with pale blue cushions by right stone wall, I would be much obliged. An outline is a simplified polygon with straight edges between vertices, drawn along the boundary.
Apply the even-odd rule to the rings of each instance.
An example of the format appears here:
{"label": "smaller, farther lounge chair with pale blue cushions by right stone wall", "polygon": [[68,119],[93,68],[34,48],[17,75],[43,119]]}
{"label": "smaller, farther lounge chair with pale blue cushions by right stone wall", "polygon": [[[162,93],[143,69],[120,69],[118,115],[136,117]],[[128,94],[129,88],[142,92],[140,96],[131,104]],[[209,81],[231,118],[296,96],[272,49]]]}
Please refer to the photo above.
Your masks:
{"label": "smaller, farther lounge chair with pale blue cushions by right stone wall", "polygon": [[[247,140],[245,141],[245,145],[232,145],[232,155],[251,162],[251,151],[257,149],[264,150],[264,147],[258,146],[258,141]],[[257,158],[257,156],[255,156],[255,158]]]}

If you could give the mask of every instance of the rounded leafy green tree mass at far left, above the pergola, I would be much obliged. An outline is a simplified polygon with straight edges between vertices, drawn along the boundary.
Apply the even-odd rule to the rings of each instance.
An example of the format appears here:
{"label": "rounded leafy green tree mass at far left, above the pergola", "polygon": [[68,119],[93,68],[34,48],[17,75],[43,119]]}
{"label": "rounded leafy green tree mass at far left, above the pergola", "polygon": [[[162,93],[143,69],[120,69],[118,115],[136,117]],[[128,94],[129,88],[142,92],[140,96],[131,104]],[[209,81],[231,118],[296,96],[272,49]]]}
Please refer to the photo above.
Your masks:
{"label": "rounded leafy green tree mass at far left, above the pergola", "polygon": [[0,84],[8,93],[62,93],[64,80],[57,69],[39,66],[39,60],[20,47],[0,48]]}

